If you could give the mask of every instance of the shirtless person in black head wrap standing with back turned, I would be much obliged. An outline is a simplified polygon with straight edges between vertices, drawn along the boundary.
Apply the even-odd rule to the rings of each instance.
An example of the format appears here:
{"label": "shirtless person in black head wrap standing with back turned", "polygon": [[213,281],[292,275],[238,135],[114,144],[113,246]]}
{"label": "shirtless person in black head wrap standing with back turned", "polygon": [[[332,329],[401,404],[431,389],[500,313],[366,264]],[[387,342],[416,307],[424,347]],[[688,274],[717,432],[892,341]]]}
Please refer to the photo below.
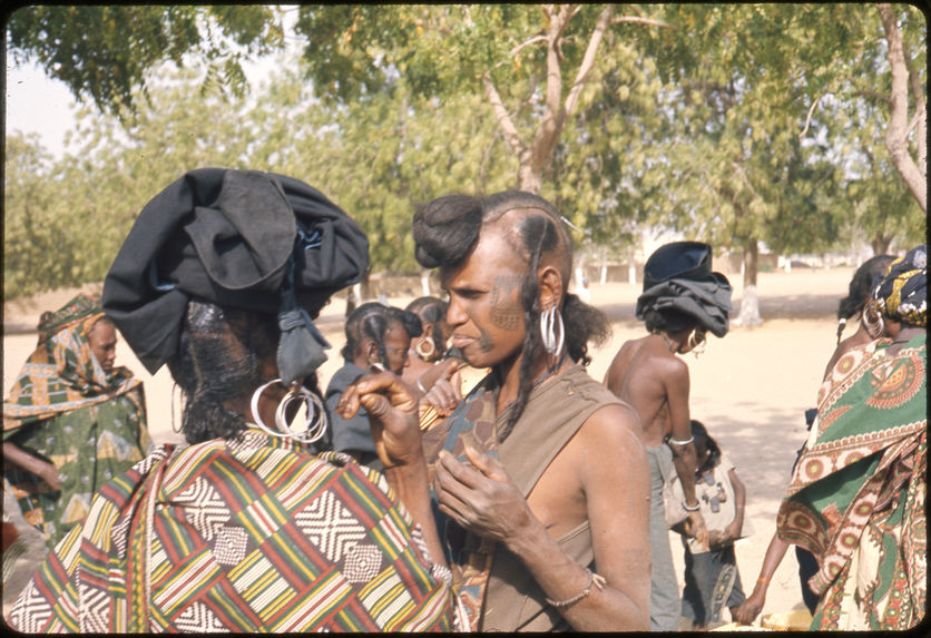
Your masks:
{"label": "shirtless person in black head wrap standing with back turned", "polygon": [[712,249],[698,242],[674,242],[656,249],[644,266],[644,293],[637,318],[647,336],[625,343],[605,375],[605,385],[640,416],[649,458],[649,536],[653,550],[649,625],[651,631],[675,631],[682,600],[669,548],[663,487],[673,467],[685,493],[683,508],[696,540],[708,533],[695,497],[695,446],[688,413],[688,366],[676,354],[696,351],[705,332],[727,333],[731,284],[712,272]]}

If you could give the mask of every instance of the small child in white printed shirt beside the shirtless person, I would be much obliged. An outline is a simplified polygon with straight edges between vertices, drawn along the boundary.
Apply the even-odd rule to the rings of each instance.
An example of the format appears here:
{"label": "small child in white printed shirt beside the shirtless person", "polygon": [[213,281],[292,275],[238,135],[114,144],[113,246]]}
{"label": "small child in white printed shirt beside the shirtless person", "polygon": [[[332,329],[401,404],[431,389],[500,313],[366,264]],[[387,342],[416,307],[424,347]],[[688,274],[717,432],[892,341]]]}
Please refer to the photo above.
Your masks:
{"label": "small child in white printed shirt beside the shirtless person", "polygon": [[[692,421],[692,435],[698,467],[695,495],[708,528],[708,547],[692,538],[693,530],[688,529],[689,521],[686,520],[680,531],[685,547],[682,615],[692,620],[693,629],[699,630],[722,624],[721,612],[725,605],[733,616],[734,609],[744,601],[734,541],[753,531],[749,521],[744,519],[746,490],[734,465],[724,458],[717,442],[698,421]],[[673,490],[682,498],[678,480]]]}

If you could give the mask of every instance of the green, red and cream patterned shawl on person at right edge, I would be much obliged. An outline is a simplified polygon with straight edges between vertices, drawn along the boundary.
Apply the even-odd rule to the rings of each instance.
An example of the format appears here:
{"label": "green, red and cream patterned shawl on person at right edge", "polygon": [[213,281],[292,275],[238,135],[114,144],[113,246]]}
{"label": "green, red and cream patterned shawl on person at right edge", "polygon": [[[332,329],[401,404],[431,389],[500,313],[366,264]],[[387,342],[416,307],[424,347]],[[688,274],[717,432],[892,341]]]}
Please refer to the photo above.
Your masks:
{"label": "green, red and cream patterned shawl on person at right edge", "polygon": [[855,619],[900,629],[923,614],[925,338],[894,355],[888,340],[853,349],[819,391],[817,421],[776,521],[782,539],[819,558],[812,628]]}

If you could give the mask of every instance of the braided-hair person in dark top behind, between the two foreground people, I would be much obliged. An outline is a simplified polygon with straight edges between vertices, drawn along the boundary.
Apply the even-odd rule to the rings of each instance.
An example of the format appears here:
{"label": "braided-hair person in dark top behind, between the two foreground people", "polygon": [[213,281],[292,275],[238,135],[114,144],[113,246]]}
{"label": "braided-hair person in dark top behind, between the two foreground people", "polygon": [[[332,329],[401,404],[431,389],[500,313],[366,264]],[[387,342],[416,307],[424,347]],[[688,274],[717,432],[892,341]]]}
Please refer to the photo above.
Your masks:
{"label": "braided-hair person in dark top behind, between the two foreground people", "polygon": [[352,455],[363,465],[381,469],[365,409],[343,419],[335,408],[346,387],[363,374],[388,371],[401,376],[408,365],[411,338],[421,332],[415,314],[381,302],[364,303],[346,318],[346,344],[342,350],[345,364],[333,373],[326,386],[334,450]]}

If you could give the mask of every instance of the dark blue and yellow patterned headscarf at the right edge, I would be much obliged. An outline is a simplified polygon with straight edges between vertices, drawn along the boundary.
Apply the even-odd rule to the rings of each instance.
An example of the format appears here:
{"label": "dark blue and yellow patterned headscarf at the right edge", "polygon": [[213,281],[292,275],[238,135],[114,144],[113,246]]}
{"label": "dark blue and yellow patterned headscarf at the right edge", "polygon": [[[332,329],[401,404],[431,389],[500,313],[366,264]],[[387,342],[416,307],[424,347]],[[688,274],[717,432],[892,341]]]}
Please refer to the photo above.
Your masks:
{"label": "dark blue and yellow patterned headscarf at the right edge", "polygon": [[928,327],[928,245],[915,246],[889,265],[873,284],[879,311],[891,320]]}

